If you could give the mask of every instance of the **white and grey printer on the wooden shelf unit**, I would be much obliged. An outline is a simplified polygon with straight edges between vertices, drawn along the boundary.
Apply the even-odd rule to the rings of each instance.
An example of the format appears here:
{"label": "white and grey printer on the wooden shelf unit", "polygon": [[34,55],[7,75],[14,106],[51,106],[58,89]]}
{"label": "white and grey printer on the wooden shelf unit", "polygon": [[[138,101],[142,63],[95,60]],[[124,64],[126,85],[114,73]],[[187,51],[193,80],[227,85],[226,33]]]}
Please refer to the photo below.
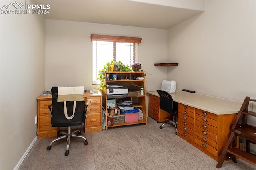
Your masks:
{"label": "white and grey printer on the wooden shelf unit", "polygon": [[128,88],[118,85],[109,85],[107,87],[107,97],[126,97]]}

